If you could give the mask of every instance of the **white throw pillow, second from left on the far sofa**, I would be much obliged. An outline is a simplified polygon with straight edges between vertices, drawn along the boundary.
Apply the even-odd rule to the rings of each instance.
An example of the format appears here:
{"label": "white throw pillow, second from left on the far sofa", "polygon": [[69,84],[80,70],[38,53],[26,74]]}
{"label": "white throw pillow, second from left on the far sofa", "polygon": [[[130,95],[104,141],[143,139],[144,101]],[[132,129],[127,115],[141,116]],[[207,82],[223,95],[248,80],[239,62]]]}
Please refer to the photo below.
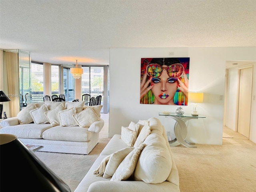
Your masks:
{"label": "white throw pillow, second from left on the far sofa", "polygon": [[49,122],[44,114],[46,111],[48,111],[48,107],[46,104],[43,104],[39,108],[31,110],[29,113],[32,116],[35,124],[45,124]]}

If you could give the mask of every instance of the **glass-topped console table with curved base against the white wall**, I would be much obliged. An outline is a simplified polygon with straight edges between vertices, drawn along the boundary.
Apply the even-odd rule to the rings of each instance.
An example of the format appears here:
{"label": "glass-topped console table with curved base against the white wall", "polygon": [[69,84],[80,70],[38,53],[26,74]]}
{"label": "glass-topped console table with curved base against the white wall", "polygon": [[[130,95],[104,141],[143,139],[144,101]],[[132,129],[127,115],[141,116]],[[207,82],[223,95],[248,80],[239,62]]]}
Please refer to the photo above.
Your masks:
{"label": "glass-topped console table with curved base against the white wall", "polygon": [[195,143],[190,143],[186,141],[186,136],[188,134],[188,128],[186,126],[186,122],[190,119],[206,118],[205,116],[202,116],[202,115],[193,116],[192,114],[188,114],[188,113],[178,115],[176,113],[162,113],[162,112],[159,112],[158,115],[173,118],[174,120],[176,120],[176,123],[174,125],[174,134],[176,138],[174,140],[169,141],[170,146],[178,146],[182,144],[185,147],[196,148]]}

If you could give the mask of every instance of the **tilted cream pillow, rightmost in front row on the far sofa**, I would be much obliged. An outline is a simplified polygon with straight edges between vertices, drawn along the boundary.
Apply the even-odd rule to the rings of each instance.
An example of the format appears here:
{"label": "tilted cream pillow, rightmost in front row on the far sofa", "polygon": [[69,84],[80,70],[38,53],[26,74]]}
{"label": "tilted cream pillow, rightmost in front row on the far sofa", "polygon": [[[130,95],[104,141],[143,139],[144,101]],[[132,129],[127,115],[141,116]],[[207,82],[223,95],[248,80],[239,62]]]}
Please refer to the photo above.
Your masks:
{"label": "tilted cream pillow, rightmost in front row on the far sofa", "polygon": [[72,116],[76,121],[76,123],[78,124],[78,126],[80,127],[90,127],[92,123],[100,120],[99,116],[90,106]]}

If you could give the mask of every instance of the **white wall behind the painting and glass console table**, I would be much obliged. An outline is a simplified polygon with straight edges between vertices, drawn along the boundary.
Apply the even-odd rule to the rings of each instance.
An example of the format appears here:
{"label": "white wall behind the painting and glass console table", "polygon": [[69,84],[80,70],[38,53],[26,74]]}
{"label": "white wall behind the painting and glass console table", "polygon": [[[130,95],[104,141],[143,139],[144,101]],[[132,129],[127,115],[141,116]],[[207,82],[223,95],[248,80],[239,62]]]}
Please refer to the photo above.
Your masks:
{"label": "white wall behind the painting and glass console table", "polygon": [[[131,121],[160,119],[166,130],[172,131],[175,121],[159,116],[158,112],[175,112],[178,106],[140,104],[140,60],[156,57],[190,57],[189,91],[204,92],[204,103],[198,104],[198,113],[206,116],[188,123],[190,142],[198,144],[222,144],[222,126],[226,60],[234,60],[244,54],[248,60],[256,56],[253,48],[113,48],[110,49],[110,112],[109,136],[121,133],[121,126]],[[168,55],[174,52],[174,55]],[[234,57],[234,59],[232,59]],[[252,59],[253,58],[253,59]],[[237,59],[236,59],[237,60]],[[224,98],[224,97],[223,97]],[[183,106],[192,111],[191,103]],[[254,113],[255,114],[255,113]]]}

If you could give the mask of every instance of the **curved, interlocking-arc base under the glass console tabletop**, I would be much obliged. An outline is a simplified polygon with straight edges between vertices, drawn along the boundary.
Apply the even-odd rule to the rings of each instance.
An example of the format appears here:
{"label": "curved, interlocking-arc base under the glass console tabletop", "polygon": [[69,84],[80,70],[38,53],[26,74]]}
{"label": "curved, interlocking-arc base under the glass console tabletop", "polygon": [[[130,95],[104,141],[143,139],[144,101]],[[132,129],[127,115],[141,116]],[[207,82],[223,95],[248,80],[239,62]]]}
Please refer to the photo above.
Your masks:
{"label": "curved, interlocking-arc base under the glass console tabletop", "polygon": [[196,145],[194,143],[190,143],[185,140],[188,134],[188,128],[185,122],[187,122],[190,119],[194,119],[194,117],[193,118],[180,117],[180,116],[166,116],[166,117],[170,117],[176,120],[176,123],[174,125],[174,134],[177,140],[174,142],[170,141],[169,142],[170,146],[178,146],[179,144],[182,144],[185,147],[196,148]]}

